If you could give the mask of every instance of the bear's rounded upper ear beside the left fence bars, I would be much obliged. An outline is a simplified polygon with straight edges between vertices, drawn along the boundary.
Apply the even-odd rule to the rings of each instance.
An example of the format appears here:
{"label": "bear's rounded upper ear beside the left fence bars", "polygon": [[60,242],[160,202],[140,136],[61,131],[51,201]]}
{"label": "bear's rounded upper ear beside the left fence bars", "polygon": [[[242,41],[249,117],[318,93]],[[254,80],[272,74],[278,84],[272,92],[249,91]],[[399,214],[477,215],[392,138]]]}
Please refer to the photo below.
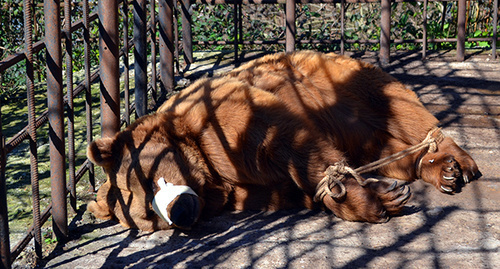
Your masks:
{"label": "bear's rounded upper ear beside the left fence bars", "polygon": [[114,138],[105,137],[90,143],[87,148],[87,157],[96,165],[109,168],[113,165],[113,159],[119,152],[113,152]]}

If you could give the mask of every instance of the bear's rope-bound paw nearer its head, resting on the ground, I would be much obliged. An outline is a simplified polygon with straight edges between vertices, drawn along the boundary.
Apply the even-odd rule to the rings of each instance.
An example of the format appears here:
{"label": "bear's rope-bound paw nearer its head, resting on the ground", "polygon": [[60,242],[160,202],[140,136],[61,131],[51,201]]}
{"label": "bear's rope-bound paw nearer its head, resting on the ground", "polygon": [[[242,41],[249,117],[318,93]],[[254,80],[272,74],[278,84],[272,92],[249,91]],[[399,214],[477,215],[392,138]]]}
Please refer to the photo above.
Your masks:
{"label": "bear's rope-bound paw nearer its head, resting on the ground", "polygon": [[[346,177],[342,183],[346,195],[339,199],[326,195],[323,203],[336,216],[345,220],[386,222],[389,216],[399,214],[410,198],[407,186],[397,187],[396,184],[379,181],[362,187],[352,177]],[[338,192],[336,188],[332,192]]]}

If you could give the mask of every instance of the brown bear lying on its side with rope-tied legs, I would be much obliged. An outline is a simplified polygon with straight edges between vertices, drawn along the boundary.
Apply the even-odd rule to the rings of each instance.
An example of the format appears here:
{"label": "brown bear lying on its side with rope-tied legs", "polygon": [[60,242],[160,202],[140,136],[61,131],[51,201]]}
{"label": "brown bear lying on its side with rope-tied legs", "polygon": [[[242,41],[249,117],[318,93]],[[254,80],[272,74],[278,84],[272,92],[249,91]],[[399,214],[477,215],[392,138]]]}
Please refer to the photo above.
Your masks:
{"label": "brown bear lying on its side with rope-tied legs", "polygon": [[[338,194],[342,185],[345,195],[314,201],[325,170],[402,151],[437,124],[412,91],[370,64],[316,52],[269,55],[201,79],[157,113],[91,143],[88,157],[108,180],[88,208],[147,231],[189,228],[223,209],[324,208],[383,222],[408,201],[406,184],[362,186],[346,174],[330,187]],[[449,137],[374,173],[423,179],[447,194],[479,174]]]}

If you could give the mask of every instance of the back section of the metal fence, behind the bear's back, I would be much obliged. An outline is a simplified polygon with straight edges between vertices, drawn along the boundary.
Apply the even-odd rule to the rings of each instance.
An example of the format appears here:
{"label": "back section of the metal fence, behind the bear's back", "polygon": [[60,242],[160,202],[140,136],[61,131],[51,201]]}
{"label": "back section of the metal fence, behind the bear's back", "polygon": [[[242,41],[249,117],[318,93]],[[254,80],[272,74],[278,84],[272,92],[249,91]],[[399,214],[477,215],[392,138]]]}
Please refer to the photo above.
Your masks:
{"label": "back section of the metal fence, behind the bear's back", "polygon": [[[457,28],[458,33],[456,38],[428,38],[427,37],[427,6],[429,1],[432,2],[458,2],[458,20]],[[380,14],[380,27],[381,35],[380,39],[368,39],[368,40],[348,40],[345,37],[345,10],[346,3],[351,4],[362,4],[362,3],[381,3],[381,14]],[[423,7],[423,17],[424,23],[422,25],[423,37],[420,39],[390,39],[391,32],[391,3],[403,3],[403,2],[422,2]],[[234,27],[237,29],[234,31],[233,41],[198,41],[198,45],[228,45],[234,44],[235,61],[238,60],[238,46],[239,45],[259,45],[259,44],[285,44],[286,51],[293,51],[295,49],[296,42],[307,43],[307,44],[340,44],[340,53],[344,54],[344,45],[347,43],[371,43],[380,44],[379,51],[379,61],[381,65],[386,65],[390,61],[390,46],[392,44],[402,44],[402,43],[421,43],[422,44],[422,58],[427,56],[427,45],[428,43],[441,43],[441,42],[456,42],[457,52],[456,60],[465,60],[465,42],[466,41],[490,41],[492,43],[492,58],[496,59],[496,42],[497,38],[497,25],[498,25],[498,0],[495,0],[493,4],[495,7],[494,18],[493,18],[493,37],[492,38],[466,38],[466,0],[182,0],[181,4],[181,16],[182,16],[182,47],[184,49],[184,56],[186,63],[192,63],[193,53],[192,44],[193,39],[191,36],[191,23],[192,18],[189,13],[189,5],[192,3],[198,4],[233,4],[233,18]],[[327,3],[327,4],[340,4],[340,14],[341,14],[341,37],[338,40],[296,40],[296,25],[295,25],[295,6],[296,4],[310,4],[310,3]],[[242,18],[241,18],[241,6],[245,4],[285,4],[285,16],[286,16],[286,39],[285,40],[242,40]],[[444,11],[443,11],[444,12]]]}

